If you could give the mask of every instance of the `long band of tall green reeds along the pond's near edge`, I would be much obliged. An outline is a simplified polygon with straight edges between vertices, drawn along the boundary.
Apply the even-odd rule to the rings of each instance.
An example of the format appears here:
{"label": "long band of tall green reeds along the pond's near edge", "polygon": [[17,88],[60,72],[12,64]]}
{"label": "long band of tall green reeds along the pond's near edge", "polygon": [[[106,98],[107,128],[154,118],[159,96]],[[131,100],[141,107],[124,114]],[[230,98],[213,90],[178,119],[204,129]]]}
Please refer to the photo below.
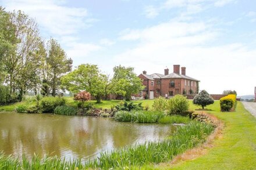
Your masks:
{"label": "long band of tall green reeds along the pond's near edge", "polygon": [[61,160],[59,157],[45,157],[42,160],[34,155],[31,161],[23,156],[22,161],[0,154],[0,169],[118,169],[120,167],[140,167],[145,164],[171,160],[205,141],[214,127],[202,122],[191,121],[179,126],[168,139],[158,142],[145,142],[101,153],[95,160],[82,163],[81,160]]}

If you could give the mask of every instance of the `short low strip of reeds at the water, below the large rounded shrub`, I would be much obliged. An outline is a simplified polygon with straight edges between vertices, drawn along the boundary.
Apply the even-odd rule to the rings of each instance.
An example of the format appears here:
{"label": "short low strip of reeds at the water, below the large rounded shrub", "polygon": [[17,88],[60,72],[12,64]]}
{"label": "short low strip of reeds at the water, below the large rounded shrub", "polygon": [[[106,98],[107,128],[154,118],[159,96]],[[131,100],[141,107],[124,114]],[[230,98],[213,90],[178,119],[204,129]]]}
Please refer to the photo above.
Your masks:
{"label": "short low strip of reeds at the water, below the large rounded shrub", "polygon": [[189,117],[182,115],[165,115],[159,118],[159,124],[188,124],[191,121]]}

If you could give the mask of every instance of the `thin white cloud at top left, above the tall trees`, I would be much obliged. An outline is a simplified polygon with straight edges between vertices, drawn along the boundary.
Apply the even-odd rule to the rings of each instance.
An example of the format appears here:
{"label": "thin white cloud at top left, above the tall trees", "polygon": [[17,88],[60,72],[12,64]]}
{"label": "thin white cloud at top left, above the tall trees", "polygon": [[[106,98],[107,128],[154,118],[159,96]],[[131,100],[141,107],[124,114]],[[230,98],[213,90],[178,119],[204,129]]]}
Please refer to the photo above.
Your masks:
{"label": "thin white cloud at top left, above the tall trees", "polygon": [[23,10],[34,17],[41,30],[49,35],[70,35],[88,28],[97,20],[88,18],[87,9],[65,6],[65,1],[3,0],[7,10]]}

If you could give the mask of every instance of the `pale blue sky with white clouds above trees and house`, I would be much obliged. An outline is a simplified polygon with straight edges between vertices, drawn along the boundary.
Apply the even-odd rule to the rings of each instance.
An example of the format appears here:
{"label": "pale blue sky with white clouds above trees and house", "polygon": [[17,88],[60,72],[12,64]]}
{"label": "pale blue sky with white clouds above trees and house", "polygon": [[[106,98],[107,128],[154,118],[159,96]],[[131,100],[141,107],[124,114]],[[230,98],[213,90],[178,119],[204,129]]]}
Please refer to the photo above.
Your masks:
{"label": "pale blue sky with white clouds above trees and house", "polygon": [[200,80],[200,90],[256,86],[256,1],[252,0],[0,0],[35,19],[41,37],[55,38],[79,64],[164,73],[173,64]]}

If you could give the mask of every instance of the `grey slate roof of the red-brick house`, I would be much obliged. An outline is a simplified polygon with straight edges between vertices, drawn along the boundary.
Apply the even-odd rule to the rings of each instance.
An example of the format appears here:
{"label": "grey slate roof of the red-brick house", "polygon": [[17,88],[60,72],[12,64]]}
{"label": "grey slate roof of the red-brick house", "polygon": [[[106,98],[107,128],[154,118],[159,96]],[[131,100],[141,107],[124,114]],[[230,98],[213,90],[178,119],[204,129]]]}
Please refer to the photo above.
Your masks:
{"label": "grey slate roof of the red-brick house", "polygon": [[151,79],[151,80],[155,80],[157,78],[184,78],[184,79],[190,79],[190,80],[193,80],[193,81],[199,81],[198,79],[195,79],[195,78],[191,78],[187,75],[183,75],[183,74],[177,74],[177,73],[171,73],[171,74],[168,74],[168,75],[163,75],[163,74],[159,74],[159,73],[154,73],[154,74],[142,74],[144,75],[145,78],[147,79]]}

